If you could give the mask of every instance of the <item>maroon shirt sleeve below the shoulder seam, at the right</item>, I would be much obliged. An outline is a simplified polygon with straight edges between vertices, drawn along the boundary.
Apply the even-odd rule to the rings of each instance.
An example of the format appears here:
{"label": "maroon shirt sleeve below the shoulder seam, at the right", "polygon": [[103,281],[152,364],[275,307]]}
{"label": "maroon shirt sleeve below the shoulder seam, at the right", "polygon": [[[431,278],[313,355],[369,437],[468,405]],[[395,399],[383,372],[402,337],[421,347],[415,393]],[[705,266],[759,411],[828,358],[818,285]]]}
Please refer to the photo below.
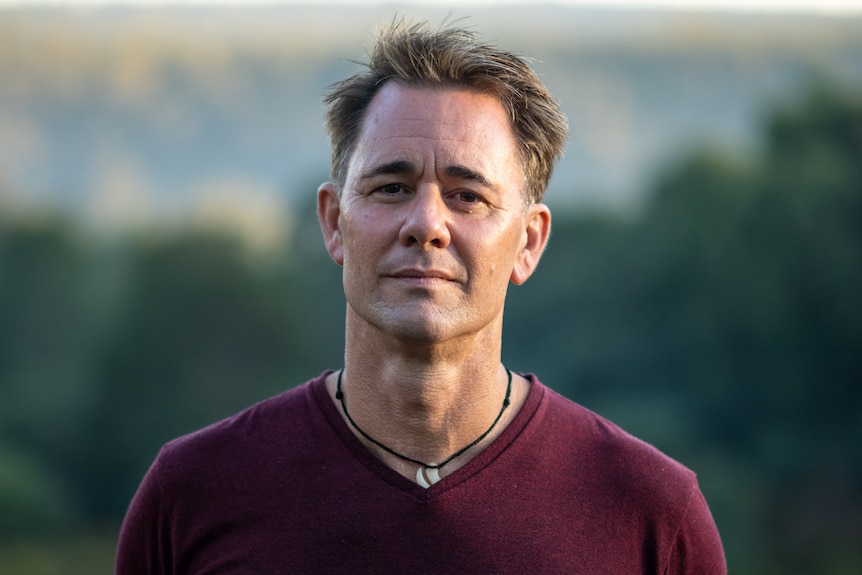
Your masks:
{"label": "maroon shirt sleeve below the shoulder seam, at the right", "polygon": [[724,548],[715,520],[695,485],[670,550],[666,575],[726,575]]}

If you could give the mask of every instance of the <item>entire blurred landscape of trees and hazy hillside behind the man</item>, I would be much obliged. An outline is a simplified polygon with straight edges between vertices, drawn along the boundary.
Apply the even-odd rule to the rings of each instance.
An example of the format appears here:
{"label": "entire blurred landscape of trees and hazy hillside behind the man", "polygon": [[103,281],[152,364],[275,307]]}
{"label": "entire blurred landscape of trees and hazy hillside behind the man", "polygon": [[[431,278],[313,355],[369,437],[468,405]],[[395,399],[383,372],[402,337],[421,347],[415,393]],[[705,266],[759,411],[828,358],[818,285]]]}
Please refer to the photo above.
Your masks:
{"label": "entire blurred landscape of trees and hazy hillside behind the man", "polygon": [[[0,573],[110,573],[159,446],[342,363],[320,96],[408,4],[0,7]],[[862,573],[862,16],[467,5],[571,121],[504,358]]]}

